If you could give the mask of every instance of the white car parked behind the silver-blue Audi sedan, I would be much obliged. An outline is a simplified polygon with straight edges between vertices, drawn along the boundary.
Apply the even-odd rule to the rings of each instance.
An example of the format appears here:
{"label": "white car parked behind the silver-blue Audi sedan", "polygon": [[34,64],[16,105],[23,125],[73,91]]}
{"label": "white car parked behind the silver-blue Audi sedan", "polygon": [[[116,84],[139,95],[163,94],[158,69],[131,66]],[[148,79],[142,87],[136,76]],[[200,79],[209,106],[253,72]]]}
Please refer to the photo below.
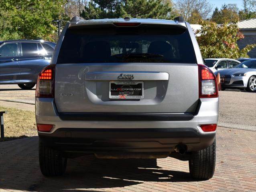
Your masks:
{"label": "white car parked behind the silver-blue Audi sedan", "polygon": [[209,67],[213,72],[217,70],[223,70],[227,68],[233,68],[240,64],[240,61],[227,58],[209,58],[205,59],[205,65]]}

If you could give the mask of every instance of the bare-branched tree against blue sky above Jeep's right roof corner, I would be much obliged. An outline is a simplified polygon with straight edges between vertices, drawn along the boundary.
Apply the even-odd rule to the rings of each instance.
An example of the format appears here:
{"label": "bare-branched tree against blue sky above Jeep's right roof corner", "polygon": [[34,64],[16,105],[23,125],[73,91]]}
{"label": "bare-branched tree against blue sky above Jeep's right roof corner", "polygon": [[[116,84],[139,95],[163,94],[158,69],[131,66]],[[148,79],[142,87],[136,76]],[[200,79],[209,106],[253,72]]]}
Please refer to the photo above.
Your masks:
{"label": "bare-branched tree against blue sky above Jeep's right roof corner", "polygon": [[176,1],[175,9],[183,16],[184,20],[192,23],[198,20],[193,18],[195,16],[203,20],[207,19],[211,13],[212,6],[206,0],[179,0]]}

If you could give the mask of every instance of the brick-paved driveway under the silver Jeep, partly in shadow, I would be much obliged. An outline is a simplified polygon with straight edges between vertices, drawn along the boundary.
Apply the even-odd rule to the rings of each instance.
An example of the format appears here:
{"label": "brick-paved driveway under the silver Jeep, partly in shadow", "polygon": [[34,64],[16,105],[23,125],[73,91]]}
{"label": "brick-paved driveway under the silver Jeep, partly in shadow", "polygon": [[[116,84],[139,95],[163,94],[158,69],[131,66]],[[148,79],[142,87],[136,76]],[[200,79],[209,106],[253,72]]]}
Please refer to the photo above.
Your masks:
{"label": "brick-paved driveway under the silver Jeep, partly in shadow", "polygon": [[255,191],[256,132],[217,130],[217,164],[211,180],[189,177],[188,162],[103,160],[84,156],[68,161],[63,177],[39,171],[38,137],[0,143],[0,192],[8,191]]}

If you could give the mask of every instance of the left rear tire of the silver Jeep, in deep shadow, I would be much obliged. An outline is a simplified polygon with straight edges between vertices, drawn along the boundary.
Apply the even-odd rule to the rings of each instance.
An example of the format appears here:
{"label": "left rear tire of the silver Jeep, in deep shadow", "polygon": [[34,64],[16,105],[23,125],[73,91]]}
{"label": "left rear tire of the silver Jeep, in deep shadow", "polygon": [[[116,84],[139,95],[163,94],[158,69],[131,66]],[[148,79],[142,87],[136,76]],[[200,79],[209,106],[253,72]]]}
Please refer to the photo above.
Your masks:
{"label": "left rear tire of the silver Jeep, in deep shadow", "polygon": [[39,139],[39,164],[44,176],[61,176],[65,173],[67,158],[60,151],[48,148]]}

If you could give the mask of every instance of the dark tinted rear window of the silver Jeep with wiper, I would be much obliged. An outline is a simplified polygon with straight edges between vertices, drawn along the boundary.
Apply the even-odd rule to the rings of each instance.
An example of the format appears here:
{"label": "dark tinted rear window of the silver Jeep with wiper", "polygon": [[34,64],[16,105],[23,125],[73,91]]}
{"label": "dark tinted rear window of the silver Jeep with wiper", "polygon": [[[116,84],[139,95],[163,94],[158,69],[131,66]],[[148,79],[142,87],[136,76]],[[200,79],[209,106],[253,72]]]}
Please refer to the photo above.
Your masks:
{"label": "dark tinted rear window of the silver Jeep with wiper", "polygon": [[196,63],[185,29],[68,29],[57,63]]}

